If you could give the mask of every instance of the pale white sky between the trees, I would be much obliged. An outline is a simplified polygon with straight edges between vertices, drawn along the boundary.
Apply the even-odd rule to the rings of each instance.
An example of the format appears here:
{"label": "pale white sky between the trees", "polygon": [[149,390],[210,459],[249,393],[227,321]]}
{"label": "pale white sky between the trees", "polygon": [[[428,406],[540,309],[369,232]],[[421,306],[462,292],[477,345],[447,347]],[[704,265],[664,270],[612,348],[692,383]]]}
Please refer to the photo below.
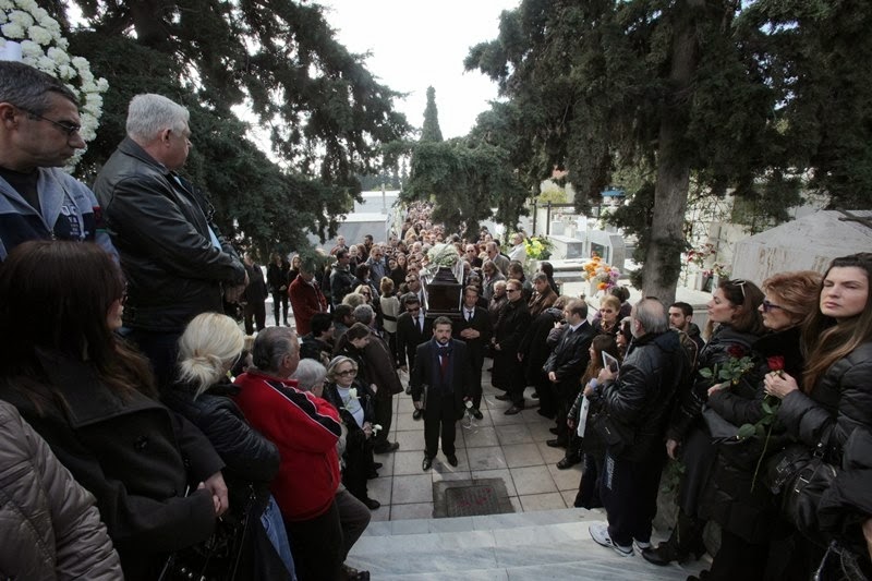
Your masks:
{"label": "pale white sky between the trees", "polygon": [[315,0],[337,38],[351,52],[372,52],[367,69],[379,82],[408,93],[395,107],[421,128],[427,87],[436,89],[443,137],[469,133],[487,101],[497,98],[496,83],[463,71],[470,47],[493,40],[499,14],[520,0]]}

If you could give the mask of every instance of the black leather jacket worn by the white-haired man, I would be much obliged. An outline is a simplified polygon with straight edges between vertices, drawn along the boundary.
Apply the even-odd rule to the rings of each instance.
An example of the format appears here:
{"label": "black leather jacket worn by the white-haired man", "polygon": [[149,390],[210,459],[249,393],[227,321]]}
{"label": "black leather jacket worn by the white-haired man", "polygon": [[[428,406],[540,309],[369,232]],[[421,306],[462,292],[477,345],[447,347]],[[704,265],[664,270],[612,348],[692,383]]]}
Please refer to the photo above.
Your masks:
{"label": "black leather jacket worn by the white-haired man", "polygon": [[128,279],[125,326],[181,331],[222,312],[222,283],[242,283],[245,268],[229,244],[213,244],[208,204],[191,184],[125,138],[94,192]]}

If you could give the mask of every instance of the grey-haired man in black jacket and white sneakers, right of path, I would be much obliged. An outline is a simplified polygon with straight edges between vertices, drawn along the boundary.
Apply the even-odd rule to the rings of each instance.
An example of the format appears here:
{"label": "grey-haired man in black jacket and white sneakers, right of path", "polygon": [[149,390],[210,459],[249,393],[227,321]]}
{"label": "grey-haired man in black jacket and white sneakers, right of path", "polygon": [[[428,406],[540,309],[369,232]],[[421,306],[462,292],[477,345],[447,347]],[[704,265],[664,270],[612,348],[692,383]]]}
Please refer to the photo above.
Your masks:
{"label": "grey-haired man in black jacket and white sneakers, right of path", "polygon": [[689,365],[678,334],[656,299],[632,308],[633,342],[617,375],[605,368],[600,386],[584,395],[601,413],[594,423],[606,443],[600,496],[608,525],[590,526],[593,540],[621,556],[633,554],[633,541],[651,545],[651,522],[665,461],[663,446],[670,402]]}

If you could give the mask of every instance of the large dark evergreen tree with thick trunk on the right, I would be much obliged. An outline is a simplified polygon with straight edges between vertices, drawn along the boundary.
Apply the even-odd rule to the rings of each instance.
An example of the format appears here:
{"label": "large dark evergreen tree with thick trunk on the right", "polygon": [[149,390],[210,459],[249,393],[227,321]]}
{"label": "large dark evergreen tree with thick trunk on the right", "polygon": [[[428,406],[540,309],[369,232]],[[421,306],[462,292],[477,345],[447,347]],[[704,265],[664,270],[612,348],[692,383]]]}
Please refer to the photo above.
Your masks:
{"label": "large dark evergreen tree with thick trunk on the right", "polygon": [[654,168],[614,220],[639,237],[645,293],[668,299],[691,174],[779,215],[810,171],[811,186],[868,207],[856,194],[870,168],[870,11],[859,0],[523,0],[465,65],[517,111],[507,147],[526,142],[540,180],[565,166],[579,210],[616,171]]}

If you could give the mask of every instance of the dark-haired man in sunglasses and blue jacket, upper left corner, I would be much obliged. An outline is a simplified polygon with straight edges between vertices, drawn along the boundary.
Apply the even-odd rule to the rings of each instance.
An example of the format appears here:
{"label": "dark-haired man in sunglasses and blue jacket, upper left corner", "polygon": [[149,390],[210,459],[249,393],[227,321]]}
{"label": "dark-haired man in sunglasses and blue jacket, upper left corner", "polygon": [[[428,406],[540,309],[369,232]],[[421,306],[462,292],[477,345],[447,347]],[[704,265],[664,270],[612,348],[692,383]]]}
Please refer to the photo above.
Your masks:
{"label": "dark-haired man in sunglasses and blue jacket, upper left corner", "polygon": [[27,240],[97,242],[116,254],[97,198],[60,169],[85,142],[78,101],[51,75],[0,62],[0,261]]}

